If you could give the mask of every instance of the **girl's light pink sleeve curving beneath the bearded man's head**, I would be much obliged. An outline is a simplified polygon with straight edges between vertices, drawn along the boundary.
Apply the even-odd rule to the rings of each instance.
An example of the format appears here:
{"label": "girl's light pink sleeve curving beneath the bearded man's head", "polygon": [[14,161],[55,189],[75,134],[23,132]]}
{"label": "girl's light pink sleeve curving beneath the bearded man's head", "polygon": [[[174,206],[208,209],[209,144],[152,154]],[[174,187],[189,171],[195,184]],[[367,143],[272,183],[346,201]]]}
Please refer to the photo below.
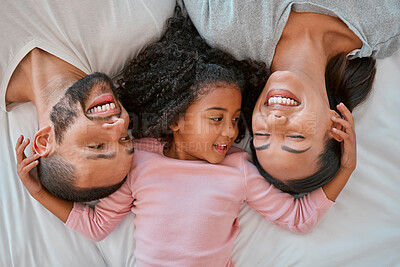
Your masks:
{"label": "girl's light pink sleeve curving beneath the bearded man's head", "polygon": [[93,241],[104,239],[131,210],[133,196],[128,181],[94,208],[75,203],[65,225]]}

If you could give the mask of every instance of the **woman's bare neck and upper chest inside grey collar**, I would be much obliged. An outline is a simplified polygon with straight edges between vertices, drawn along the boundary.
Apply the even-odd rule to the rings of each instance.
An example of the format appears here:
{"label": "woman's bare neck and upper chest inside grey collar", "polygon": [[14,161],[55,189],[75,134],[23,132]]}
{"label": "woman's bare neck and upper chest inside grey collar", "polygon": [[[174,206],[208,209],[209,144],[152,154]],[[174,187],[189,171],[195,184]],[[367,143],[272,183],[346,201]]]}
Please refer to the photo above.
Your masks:
{"label": "woman's bare neck and upper chest inside grey collar", "polygon": [[324,75],[332,57],[361,46],[360,39],[340,19],[291,11],[275,50],[271,71]]}

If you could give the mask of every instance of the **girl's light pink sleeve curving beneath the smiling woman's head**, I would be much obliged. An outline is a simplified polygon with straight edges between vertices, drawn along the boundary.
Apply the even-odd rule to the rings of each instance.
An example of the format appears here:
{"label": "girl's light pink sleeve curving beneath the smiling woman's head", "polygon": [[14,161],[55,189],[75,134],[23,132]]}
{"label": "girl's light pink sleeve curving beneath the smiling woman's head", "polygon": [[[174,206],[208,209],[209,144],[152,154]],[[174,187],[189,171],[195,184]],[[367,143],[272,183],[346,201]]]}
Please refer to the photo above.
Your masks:
{"label": "girl's light pink sleeve curving beneath the smiling woman's head", "polygon": [[310,232],[334,205],[322,188],[302,198],[276,189],[258,172],[257,168],[243,157],[246,202],[267,221],[296,233]]}

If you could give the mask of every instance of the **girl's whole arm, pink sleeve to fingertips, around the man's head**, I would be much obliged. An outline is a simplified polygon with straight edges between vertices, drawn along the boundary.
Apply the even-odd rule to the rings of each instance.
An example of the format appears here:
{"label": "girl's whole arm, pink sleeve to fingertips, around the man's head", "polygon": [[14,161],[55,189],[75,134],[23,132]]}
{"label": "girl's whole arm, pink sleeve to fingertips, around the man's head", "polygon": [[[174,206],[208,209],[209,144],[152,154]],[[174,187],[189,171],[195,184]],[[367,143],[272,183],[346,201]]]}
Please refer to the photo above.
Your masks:
{"label": "girl's whole arm, pink sleeve to fingertips, around the man's head", "polygon": [[32,197],[68,227],[94,241],[100,241],[130,212],[133,197],[127,182],[115,193],[101,199],[94,208],[55,197],[42,186],[38,179],[36,166],[39,157],[25,156],[24,150],[28,144],[29,140],[23,142],[22,136],[17,141],[18,175]]}

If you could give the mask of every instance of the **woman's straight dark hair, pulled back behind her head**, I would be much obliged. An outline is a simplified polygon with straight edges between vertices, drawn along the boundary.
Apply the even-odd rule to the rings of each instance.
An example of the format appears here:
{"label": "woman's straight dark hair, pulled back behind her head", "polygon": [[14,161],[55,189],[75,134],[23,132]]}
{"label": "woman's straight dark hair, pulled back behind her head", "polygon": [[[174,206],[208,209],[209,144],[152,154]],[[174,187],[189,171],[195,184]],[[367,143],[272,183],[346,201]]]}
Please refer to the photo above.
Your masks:
{"label": "woman's straight dark hair, pulled back behind her head", "polygon": [[[350,111],[353,111],[356,106],[364,102],[372,90],[376,73],[375,65],[376,61],[371,57],[349,60],[344,53],[333,57],[328,62],[325,72],[326,92],[330,108],[340,113],[336,105],[342,102]],[[253,103],[255,102],[256,99],[253,99]],[[249,114],[246,115],[247,120],[251,118],[249,116]],[[334,139],[329,139],[325,143],[324,152],[319,155],[318,171],[304,179],[290,180],[287,184],[284,184],[261,167],[252,142],[250,147],[254,164],[261,175],[275,187],[291,194],[314,191],[329,183],[340,168],[341,143]]]}

